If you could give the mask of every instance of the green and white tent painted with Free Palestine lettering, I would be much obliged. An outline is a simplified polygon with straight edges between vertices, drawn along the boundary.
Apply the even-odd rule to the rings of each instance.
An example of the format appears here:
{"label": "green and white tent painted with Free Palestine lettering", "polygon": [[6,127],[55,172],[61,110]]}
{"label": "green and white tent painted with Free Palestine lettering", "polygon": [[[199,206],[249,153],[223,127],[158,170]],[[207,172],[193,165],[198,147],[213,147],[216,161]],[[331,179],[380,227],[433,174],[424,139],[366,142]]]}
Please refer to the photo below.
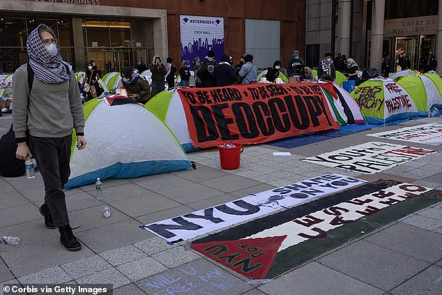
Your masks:
{"label": "green and white tent painted with Free Palestine lettering", "polygon": [[356,87],[351,96],[369,124],[385,125],[419,116],[413,98],[391,79],[367,80]]}

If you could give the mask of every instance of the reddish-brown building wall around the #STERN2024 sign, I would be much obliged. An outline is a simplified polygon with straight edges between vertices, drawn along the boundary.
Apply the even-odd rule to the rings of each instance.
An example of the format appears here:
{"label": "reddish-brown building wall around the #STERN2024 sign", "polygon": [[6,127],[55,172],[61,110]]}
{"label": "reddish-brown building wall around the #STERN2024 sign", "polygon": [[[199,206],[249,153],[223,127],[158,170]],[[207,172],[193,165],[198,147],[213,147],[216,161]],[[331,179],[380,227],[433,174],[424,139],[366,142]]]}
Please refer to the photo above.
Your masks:
{"label": "reddish-brown building wall around the #STERN2024 sign", "polygon": [[[128,6],[167,10],[169,54],[179,65],[180,15],[224,17],[224,50],[235,63],[245,53],[245,19],[279,20],[280,55],[284,66],[295,49],[305,57],[306,0],[100,0],[102,6]],[[271,65],[269,65],[271,66]]]}

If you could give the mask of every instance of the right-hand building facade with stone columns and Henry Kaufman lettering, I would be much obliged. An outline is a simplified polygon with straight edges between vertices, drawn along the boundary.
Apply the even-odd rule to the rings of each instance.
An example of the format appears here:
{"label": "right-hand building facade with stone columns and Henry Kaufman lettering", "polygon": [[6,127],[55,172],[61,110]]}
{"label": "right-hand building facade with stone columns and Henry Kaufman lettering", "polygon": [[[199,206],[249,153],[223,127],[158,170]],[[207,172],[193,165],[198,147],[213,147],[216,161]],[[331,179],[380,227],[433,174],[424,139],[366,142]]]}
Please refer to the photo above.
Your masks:
{"label": "right-hand building facade with stone columns and Henry Kaufman lettering", "polygon": [[411,68],[422,70],[429,50],[442,59],[441,6],[441,0],[309,0],[307,63],[317,66],[331,52],[380,70],[383,56],[397,66],[395,56],[405,52]]}

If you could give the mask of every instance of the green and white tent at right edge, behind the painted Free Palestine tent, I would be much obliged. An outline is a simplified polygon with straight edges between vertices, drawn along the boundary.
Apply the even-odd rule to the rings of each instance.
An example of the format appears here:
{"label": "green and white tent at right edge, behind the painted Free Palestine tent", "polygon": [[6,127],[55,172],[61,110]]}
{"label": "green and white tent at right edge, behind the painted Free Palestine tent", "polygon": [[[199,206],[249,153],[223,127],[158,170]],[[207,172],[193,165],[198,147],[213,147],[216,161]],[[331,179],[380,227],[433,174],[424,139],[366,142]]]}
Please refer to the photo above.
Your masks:
{"label": "green and white tent at right edge, behind the painted Free Palestine tent", "polygon": [[397,84],[404,87],[418,108],[420,116],[427,116],[431,107],[442,107],[442,97],[436,84],[425,75],[399,77]]}

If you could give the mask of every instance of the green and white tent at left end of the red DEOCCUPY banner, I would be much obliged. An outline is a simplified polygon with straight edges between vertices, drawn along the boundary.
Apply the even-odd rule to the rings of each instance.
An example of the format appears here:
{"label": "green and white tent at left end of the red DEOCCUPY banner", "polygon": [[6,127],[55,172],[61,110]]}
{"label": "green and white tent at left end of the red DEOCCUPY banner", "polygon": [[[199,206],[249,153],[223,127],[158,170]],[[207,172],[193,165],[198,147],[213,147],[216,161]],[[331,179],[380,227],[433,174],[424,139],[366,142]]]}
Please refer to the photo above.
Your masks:
{"label": "green and white tent at left end of the red DEOCCUPY banner", "polygon": [[181,103],[181,98],[175,89],[158,93],[144,107],[156,114],[162,121],[165,121],[186,153],[197,151],[192,139],[190,139],[183,103]]}

